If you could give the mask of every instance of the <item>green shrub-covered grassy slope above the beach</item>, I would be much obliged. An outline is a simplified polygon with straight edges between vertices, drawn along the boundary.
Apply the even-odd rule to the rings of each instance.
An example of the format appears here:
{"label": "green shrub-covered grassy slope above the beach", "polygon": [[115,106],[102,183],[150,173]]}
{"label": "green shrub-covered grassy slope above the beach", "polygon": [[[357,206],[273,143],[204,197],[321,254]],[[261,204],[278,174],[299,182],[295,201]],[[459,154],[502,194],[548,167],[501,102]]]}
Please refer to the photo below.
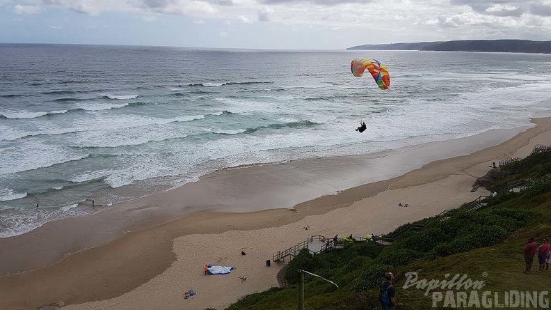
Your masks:
{"label": "green shrub-covered grassy slope above the beach", "polygon": [[[551,287],[551,271],[523,274],[522,247],[527,236],[536,242],[551,234],[551,152],[493,169],[499,178],[490,189],[500,191],[486,208],[460,211],[420,232],[399,235],[391,245],[355,242],[344,250],[311,256],[301,251],[287,268],[289,286],[243,297],[227,310],[296,309],[296,270],[304,269],[335,281],[305,275],[305,309],[379,309],[378,286],[385,271],[396,275],[398,309],[432,309],[431,295],[415,287],[403,288],[406,272],[419,279],[445,279],[445,274],[467,274],[484,281],[483,290],[534,291]],[[522,192],[506,192],[506,185],[532,178]],[[424,224],[426,219],[414,224]],[[532,270],[537,269],[537,258]],[[440,306],[442,304],[440,303]]]}

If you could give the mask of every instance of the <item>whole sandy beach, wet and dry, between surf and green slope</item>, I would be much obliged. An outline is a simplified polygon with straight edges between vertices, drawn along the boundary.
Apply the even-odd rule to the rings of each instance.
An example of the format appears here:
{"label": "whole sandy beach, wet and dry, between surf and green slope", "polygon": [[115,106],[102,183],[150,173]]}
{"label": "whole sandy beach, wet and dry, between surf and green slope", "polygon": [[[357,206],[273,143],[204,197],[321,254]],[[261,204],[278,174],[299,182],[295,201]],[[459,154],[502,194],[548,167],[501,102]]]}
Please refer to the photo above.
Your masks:
{"label": "whole sandy beach, wet and dry, between surf and green slope", "polygon": [[[277,286],[283,264],[266,259],[309,235],[388,233],[488,194],[470,192],[488,165],[551,144],[551,118],[532,122],[377,155],[217,171],[1,239],[0,309],[221,310]],[[205,263],[236,269],[205,276]],[[184,300],[191,288],[198,295]]]}

